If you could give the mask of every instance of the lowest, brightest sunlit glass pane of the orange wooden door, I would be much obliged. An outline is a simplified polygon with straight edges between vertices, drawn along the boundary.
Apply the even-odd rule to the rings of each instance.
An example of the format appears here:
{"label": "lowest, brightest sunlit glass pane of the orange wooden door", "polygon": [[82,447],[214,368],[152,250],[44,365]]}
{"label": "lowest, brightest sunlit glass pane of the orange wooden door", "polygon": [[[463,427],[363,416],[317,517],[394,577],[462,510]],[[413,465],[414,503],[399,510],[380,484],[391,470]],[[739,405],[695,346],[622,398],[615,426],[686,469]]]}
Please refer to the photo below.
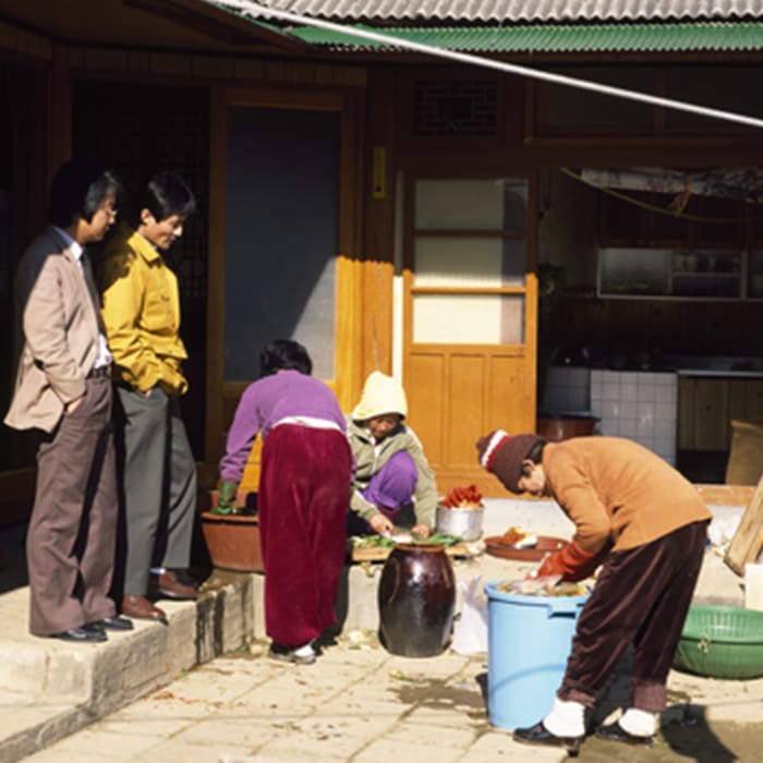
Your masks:
{"label": "lowest, brightest sunlit glass pane of the orange wooden door", "polygon": [[521,344],[524,298],[501,294],[416,294],[413,341],[434,344]]}

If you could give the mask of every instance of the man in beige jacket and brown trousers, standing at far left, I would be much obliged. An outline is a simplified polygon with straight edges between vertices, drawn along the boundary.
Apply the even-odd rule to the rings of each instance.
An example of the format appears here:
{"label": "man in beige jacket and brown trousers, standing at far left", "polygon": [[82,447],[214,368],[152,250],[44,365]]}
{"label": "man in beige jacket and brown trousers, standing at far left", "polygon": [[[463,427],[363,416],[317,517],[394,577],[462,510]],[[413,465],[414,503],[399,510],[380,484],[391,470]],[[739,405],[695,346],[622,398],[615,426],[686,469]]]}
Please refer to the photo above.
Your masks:
{"label": "man in beige jacket and brown trousers, standing at far left", "polygon": [[29,631],[106,641],[126,630],[108,596],[114,564],[117,485],[111,354],[84,247],[116,217],[121,183],[89,160],[63,165],[50,189],[50,226],[15,279],[16,376],[5,423],[44,433],[26,538]]}

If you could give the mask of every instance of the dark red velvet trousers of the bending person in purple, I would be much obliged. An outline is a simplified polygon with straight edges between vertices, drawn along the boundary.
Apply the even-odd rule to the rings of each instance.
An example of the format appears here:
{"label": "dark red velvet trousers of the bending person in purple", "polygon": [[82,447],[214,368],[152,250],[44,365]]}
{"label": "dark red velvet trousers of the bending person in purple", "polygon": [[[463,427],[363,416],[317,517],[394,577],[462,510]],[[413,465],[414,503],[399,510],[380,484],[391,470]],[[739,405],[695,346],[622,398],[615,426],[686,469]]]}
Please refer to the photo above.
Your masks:
{"label": "dark red velvet trousers of the bending person in purple", "polygon": [[335,429],[282,424],[265,438],[257,506],[265,627],[300,646],[336,622],[352,457]]}

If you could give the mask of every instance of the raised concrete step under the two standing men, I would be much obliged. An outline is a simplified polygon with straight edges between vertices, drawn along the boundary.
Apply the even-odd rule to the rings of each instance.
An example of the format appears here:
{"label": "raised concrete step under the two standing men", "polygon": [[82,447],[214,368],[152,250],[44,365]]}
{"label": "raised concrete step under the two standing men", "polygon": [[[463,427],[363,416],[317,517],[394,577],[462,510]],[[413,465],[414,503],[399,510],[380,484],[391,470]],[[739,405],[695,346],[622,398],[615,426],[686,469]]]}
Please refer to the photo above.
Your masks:
{"label": "raised concrete step under the two standing men", "polygon": [[249,642],[262,577],[215,581],[197,602],[161,602],[167,626],[135,620],[102,644],[27,632],[27,588],[0,596],[0,763],[11,763]]}

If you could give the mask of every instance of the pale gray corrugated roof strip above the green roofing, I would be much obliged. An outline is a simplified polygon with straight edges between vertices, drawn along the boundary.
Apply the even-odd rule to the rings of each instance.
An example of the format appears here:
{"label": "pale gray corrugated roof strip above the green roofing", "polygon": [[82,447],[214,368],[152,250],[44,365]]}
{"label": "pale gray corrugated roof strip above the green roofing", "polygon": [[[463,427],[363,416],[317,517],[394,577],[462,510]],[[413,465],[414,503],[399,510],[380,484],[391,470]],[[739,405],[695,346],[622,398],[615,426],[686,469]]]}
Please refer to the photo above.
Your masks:
{"label": "pale gray corrugated roof strip above the green roofing", "polygon": [[581,22],[763,17],[763,0],[261,0],[334,21]]}

